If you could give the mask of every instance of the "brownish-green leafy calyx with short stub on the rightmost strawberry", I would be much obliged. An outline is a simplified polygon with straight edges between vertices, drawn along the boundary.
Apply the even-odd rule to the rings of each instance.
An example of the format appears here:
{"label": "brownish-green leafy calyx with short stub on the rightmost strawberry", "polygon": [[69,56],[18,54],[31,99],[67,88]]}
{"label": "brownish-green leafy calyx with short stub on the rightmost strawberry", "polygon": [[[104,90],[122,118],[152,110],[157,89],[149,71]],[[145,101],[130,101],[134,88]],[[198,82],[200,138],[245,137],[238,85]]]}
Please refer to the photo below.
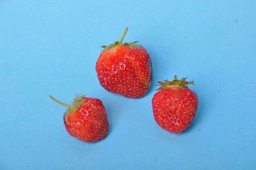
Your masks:
{"label": "brownish-green leafy calyx with short stub on the rightmost strawberry", "polygon": [[162,90],[162,89],[165,89],[165,88],[168,88],[168,87],[173,87],[173,86],[182,87],[182,88],[188,89],[189,88],[187,86],[188,84],[191,84],[191,85],[195,84],[195,83],[193,83],[194,81],[186,81],[186,78],[182,78],[180,80],[177,80],[177,76],[176,75],[174,76],[174,80],[173,81],[168,81],[168,79],[167,80],[163,80],[163,81],[164,82],[157,81],[157,83],[159,83],[158,85],[160,85],[160,87],[158,89],[155,89],[155,90]]}

